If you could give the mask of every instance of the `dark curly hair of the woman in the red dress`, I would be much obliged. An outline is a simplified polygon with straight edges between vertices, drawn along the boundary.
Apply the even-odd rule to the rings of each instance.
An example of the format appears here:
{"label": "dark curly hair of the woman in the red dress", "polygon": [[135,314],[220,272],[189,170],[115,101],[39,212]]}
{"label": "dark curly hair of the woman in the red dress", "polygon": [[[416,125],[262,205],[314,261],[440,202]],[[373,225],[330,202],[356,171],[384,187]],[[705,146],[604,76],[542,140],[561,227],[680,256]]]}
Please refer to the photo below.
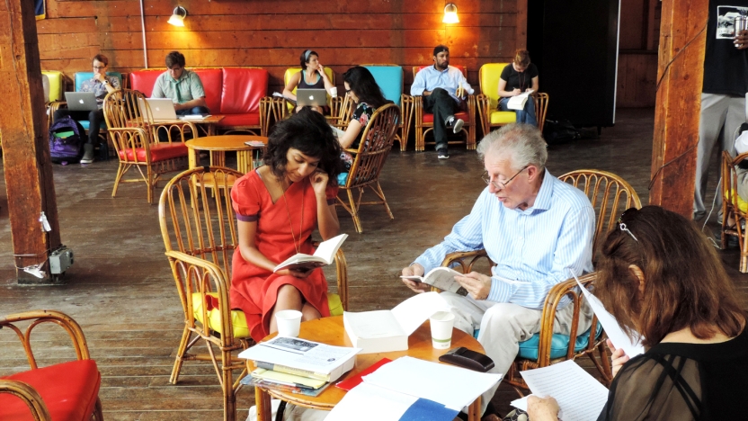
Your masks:
{"label": "dark curly hair of the woman in the red dress", "polygon": [[341,148],[325,116],[305,107],[273,126],[263,158],[273,175],[282,177],[285,174],[290,148],[298,149],[307,157],[318,158],[317,167],[330,177],[328,183],[337,184],[343,163]]}

